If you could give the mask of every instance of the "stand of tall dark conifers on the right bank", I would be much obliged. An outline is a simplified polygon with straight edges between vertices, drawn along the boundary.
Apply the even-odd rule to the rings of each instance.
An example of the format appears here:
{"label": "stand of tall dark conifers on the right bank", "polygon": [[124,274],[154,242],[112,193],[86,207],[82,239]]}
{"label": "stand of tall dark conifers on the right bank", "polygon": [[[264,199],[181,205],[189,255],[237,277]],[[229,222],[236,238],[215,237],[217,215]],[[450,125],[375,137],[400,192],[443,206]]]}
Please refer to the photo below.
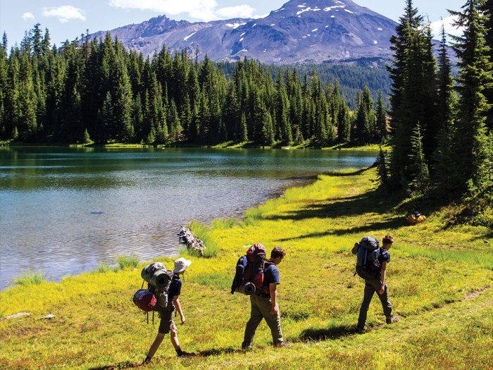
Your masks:
{"label": "stand of tall dark conifers on the right bank", "polygon": [[406,0],[391,38],[392,134],[389,154],[379,157],[382,189],[458,202],[461,216],[493,227],[493,0],[467,0],[451,12],[464,29],[452,43],[455,79],[444,30],[437,61],[430,25],[419,14]]}

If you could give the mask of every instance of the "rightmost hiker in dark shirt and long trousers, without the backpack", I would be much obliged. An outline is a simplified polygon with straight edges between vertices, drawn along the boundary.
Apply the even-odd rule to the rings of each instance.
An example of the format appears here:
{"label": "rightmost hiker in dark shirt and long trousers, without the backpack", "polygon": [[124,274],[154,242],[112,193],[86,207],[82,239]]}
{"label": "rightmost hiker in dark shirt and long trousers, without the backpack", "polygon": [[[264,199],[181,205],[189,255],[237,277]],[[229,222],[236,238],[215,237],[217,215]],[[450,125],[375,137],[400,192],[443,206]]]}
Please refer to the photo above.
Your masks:
{"label": "rightmost hiker in dark shirt and long trousers, without the backpack", "polygon": [[[365,279],[365,290],[363,295],[363,302],[361,303],[361,308],[359,309],[358,318],[358,330],[363,331],[366,324],[366,314],[368,313],[368,308],[370,307],[370,302],[373,297],[373,293],[377,292],[380,302],[382,302],[383,313],[385,314],[386,322],[393,323],[399,321],[399,317],[392,314],[392,304],[389,301],[387,295],[387,262],[390,261],[389,249],[392,247],[394,238],[390,235],[385,235],[382,240],[382,247],[380,247],[380,255],[378,261],[380,262],[380,276],[374,279]],[[359,248],[359,243],[357,242],[351,252],[357,254]]]}

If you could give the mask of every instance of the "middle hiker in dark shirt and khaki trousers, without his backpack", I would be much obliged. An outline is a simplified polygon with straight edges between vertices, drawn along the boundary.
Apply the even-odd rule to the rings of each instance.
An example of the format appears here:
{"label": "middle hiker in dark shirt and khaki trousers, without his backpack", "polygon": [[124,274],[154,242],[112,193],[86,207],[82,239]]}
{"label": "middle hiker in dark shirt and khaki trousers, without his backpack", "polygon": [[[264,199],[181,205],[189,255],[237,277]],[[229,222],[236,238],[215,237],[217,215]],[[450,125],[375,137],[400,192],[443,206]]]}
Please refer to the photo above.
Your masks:
{"label": "middle hiker in dark shirt and khaki trousers, without his backpack", "polygon": [[266,319],[266,323],[270,328],[274,347],[286,346],[282,338],[279,305],[277,304],[277,285],[280,284],[281,280],[279,269],[276,266],[281,263],[285,254],[285,250],[280,247],[275,247],[270,252],[270,259],[266,261],[263,269],[263,289],[257,289],[254,294],[250,295],[251,312],[250,319],[246,323],[242,343],[242,349],[244,350],[251,350],[251,343],[262,319]]}

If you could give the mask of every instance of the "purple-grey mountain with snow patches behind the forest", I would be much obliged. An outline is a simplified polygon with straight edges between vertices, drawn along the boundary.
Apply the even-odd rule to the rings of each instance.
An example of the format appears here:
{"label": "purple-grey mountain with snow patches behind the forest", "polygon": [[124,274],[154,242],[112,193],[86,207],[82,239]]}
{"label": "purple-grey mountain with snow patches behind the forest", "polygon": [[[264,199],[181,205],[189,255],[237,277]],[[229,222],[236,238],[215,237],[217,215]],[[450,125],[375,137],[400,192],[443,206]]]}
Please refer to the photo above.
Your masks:
{"label": "purple-grey mountain with snow patches behind the forest", "polygon": [[397,23],[351,0],[292,0],[265,18],[190,23],[166,16],[89,35],[118,37],[127,49],[154,54],[166,45],[199,59],[235,61],[244,56],[264,63],[321,63],[389,57]]}

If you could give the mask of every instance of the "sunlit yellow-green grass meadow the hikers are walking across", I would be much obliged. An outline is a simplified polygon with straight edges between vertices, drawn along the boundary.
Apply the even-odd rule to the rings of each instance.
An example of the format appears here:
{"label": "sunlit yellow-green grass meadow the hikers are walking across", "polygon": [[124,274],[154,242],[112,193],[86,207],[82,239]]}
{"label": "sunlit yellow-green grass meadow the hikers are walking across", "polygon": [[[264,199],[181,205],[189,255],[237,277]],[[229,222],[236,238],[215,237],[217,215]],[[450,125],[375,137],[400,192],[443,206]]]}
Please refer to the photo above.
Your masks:
{"label": "sunlit yellow-green grass meadow the hikers are walking across", "polygon": [[[445,228],[443,210],[407,226],[395,203],[375,192],[375,169],[320,175],[246,212],[242,223],[215,221],[208,238],[215,257],[192,259],[182,286],[187,322],[178,359],[168,338],[143,369],[492,369],[492,234],[486,228]],[[194,225],[192,225],[194,228]],[[385,326],[375,296],[366,333],[355,324],[363,281],[351,247],[365,235],[397,239],[387,269],[389,296],[401,321]],[[275,350],[261,323],[254,350],[243,353],[249,299],[230,294],[237,259],[263,242],[287,249],[280,264],[282,329],[292,346]],[[162,258],[166,266],[173,259]],[[130,298],[135,269],[92,272],[0,293],[0,368],[106,369],[142,363],[157,322]],[[54,314],[51,320],[38,320]]]}

